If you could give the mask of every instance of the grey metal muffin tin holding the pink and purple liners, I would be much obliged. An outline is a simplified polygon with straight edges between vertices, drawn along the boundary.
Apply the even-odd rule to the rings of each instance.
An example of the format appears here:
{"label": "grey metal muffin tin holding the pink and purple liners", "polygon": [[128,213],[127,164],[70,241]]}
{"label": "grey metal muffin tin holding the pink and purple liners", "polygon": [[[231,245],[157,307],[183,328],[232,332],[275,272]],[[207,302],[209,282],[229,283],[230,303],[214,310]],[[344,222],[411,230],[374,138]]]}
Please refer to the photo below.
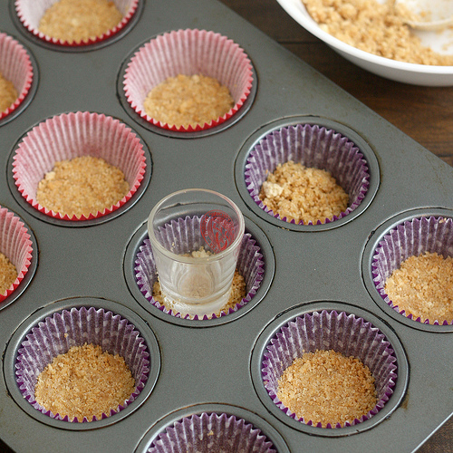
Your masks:
{"label": "grey metal muffin tin holding the pink and purple liners", "polygon": [[[222,427],[244,429],[246,437],[259,440],[259,451],[372,452],[390,445],[413,451],[451,416],[453,325],[419,323],[398,313],[379,294],[372,272],[374,252],[392,228],[413,218],[453,217],[453,170],[447,164],[215,0],[141,0],[118,34],[75,47],[28,32],[12,0],[0,5],[0,17],[1,32],[24,46],[34,70],[24,101],[0,120],[0,206],[24,223],[32,247],[27,273],[0,303],[0,439],[18,452],[51,446],[160,451],[170,434],[181,439],[179,427],[197,431],[208,420],[213,435]],[[250,59],[253,83],[244,105],[221,124],[165,130],[131,108],[123,79],[144,43],[187,29],[213,31],[239,44]],[[129,200],[82,221],[40,212],[22,196],[13,173],[27,133],[71,112],[119,120],[140,140],[146,160]],[[246,178],[255,147],[298,125],[351,140],[368,174],[357,206],[321,225],[295,225],[265,212]],[[248,295],[236,310],[212,319],[167,313],[152,303],[140,276],[152,275],[152,260],[146,259],[150,209],[171,192],[195,187],[225,194],[246,217]],[[450,244],[447,250],[451,255]],[[16,370],[30,333],[82,307],[133,324],[149,352],[149,372],[127,407],[74,423],[36,409],[24,398]],[[304,316],[338,313],[379,331],[396,369],[379,410],[350,426],[323,429],[275,404],[263,361],[281,329]],[[187,443],[187,434],[182,436]]]}

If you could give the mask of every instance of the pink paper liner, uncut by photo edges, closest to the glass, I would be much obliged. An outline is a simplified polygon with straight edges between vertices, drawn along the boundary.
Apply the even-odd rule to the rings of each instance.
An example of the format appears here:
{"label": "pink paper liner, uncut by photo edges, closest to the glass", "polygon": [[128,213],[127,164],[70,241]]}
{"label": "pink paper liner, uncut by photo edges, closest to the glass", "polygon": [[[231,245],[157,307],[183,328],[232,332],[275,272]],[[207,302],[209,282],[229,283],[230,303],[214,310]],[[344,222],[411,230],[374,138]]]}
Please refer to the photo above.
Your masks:
{"label": "pink paper liner, uncut by photo edges, closest to the glass", "polygon": [[[49,210],[36,200],[36,190],[56,162],[81,156],[105,159],[119,168],[130,191],[115,205],[88,217]],[[64,113],[38,124],[15,151],[13,177],[19,192],[39,212],[63,220],[88,220],[110,214],[127,203],[140,187],[146,159],[139,138],[119,120],[98,113]]]}

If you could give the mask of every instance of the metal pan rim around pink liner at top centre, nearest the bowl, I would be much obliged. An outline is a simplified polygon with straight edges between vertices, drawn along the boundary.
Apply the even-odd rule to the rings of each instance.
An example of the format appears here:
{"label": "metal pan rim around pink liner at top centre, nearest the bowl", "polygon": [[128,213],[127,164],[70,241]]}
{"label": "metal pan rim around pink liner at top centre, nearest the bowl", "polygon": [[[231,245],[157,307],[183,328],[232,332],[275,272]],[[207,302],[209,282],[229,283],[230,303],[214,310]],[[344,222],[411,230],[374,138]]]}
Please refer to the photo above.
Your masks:
{"label": "metal pan rim around pink liner at top centre, nearest the bowl", "polygon": [[126,111],[126,113],[130,116],[132,120],[134,120],[137,124],[139,124],[142,128],[149,130],[151,132],[155,132],[163,137],[168,137],[168,138],[173,138],[173,139],[200,139],[203,137],[207,137],[210,135],[217,134],[218,132],[221,132],[222,130],[226,130],[236,124],[237,121],[241,120],[246,113],[250,110],[252,107],[253,102],[255,101],[255,95],[257,92],[257,85],[258,85],[258,79],[257,79],[257,74],[255,71],[255,66],[248,56],[248,53],[246,53],[246,50],[244,47],[241,46],[241,48],[244,50],[246,53],[246,56],[248,60],[250,61],[250,66],[251,66],[251,72],[252,72],[252,85],[250,87],[250,92],[248,93],[246,100],[242,104],[242,106],[239,108],[238,111],[236,111],[230,118],[227,120],[223,121],[222,123],[218,124],[217,126],[210,127],[205,130],[196,130],[196,131],[178,131],[178,130],[169,130],[169,129],[164,129],[160,128],[159,126],[155,126],[146,118],[142,118],[137,111],[135,111],[131,105],[130,102],[128,101],[127,95],[124,91],[124,76],[126,74],[126,70],[128,69],[128,66],[130,64],[130,60],[132,57],[135,55],[135,53],[139,52],[140,48],[143,47],[146,43],[149,43],[151,40],[157,38],[158,36],[166,33],[171,33],[173,30],[169,30],[167,32],[162,32],[159,34],[154,34],[149,36],[146,40],[142,41],[138,45],[136,45],[130,53],[128,53],[123,62],[120,65],[120,71],[118,72],[118,78],[117,78],[117,97],[120,101],[120,105]]}

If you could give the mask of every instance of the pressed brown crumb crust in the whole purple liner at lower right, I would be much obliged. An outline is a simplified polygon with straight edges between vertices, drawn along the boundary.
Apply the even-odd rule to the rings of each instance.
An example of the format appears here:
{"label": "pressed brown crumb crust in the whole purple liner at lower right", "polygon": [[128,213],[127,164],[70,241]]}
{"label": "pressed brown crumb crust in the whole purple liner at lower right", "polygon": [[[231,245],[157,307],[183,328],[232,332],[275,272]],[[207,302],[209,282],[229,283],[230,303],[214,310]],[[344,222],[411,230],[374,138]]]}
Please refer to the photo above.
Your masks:
{"label": "pressed brown crumb crust in the whole purple liner at lower right", "polygon": [[277,397],[298,418],[313,424],[343,425],[360,419],[376,406],[370,369],[340,352],[306,352],[286,368]]}

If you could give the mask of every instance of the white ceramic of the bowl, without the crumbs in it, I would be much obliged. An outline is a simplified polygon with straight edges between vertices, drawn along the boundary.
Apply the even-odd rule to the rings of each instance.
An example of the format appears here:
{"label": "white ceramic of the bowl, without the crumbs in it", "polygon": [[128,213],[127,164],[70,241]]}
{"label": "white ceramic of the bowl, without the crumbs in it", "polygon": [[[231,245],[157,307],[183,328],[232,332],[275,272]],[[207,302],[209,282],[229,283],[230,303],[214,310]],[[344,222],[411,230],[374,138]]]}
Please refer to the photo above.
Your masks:
{"label": "white ceramic of the bowl, without the crumbs in it", "polygon": [[[334,38],[331,34],[323,32],[308,14],[302,0],[277,0],[277,2],[287,14],[291,15],[308,32],[321,39],[350,62],[367,71],[396,82],[411,83],[413,85],[453,86],[453,66],[429,66],[426,64],[397,62],[361,51]],[[443,32],[417,30],[414,33],[420,36],[423,44],[428,45],[434,51],[453,54],[453,31],[451,29]]]}

